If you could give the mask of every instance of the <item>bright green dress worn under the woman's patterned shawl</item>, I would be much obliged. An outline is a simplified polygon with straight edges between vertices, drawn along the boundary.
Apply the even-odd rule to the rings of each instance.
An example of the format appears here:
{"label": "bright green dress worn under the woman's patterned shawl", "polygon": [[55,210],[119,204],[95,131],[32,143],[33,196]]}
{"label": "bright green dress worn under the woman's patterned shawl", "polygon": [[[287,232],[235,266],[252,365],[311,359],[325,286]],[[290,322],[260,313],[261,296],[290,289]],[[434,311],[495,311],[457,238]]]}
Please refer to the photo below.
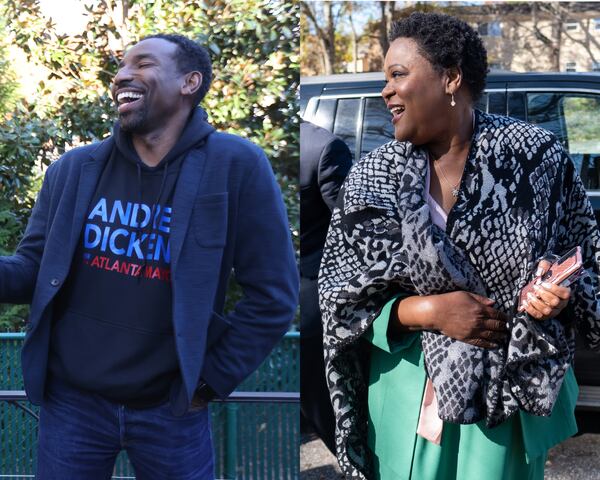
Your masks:
{"label": "bright green dress worn under the woman's patterned shawl", "polygon": [[368,444],[382,480],[542,480],[548,450],[577,432],[578,387],[567,371],[550,417],[524,412],[495,428],[444,422],[441,445],[416,434],[426,374],[420,334],[387,337],[389,301],[366,333],[374,348]]}

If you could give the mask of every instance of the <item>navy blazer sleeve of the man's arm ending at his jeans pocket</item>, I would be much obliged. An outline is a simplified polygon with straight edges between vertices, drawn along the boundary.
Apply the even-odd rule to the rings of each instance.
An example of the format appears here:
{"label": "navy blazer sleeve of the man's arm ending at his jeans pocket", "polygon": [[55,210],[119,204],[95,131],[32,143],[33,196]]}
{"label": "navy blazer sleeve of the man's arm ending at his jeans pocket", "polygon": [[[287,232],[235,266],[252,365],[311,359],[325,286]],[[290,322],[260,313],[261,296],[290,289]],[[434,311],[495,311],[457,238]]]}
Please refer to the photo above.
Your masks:
{"label": "navy blazer sleeve of the man's arm ending at his jeans pocket", "polygon": [[298,305],[298,268],[281,191],[259,155],[239,198],[233,259],[243,298],[230,327],[208,350],[202,379],[226,397],[266,358],[288,330]]}

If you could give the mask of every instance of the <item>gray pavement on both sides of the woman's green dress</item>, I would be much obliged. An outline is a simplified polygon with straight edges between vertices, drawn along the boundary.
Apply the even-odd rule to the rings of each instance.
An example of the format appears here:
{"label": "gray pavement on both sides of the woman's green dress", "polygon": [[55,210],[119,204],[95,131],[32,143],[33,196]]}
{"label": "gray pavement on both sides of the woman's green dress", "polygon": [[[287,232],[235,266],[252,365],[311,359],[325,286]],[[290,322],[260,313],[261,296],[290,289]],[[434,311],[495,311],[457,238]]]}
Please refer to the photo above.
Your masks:
{"label": "gray pavement on both sides of the woman's green dress", "polygon": [[[342,479],[335,457],[314,436],[303,435],[300,480]],[[544,480],[600,480],[600,435],[573,437],[548,454]]]}

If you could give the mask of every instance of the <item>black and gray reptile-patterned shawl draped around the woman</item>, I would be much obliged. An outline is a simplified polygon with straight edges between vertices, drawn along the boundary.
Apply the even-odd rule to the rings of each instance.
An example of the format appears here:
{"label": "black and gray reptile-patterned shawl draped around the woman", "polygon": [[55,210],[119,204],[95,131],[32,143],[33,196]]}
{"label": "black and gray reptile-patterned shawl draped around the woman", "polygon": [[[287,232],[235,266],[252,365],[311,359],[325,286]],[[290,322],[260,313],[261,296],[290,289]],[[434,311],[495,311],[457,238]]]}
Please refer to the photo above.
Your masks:
{"label": "black and gray reptile-patterned shawl draped around the woman", "polygon": [[[550,415],[574,353],[574,326],[600,346],[600,235],[561,144],[541,128],[476,114],[460,194],[446,231],[425,200],[426,152],[390,142],[351,170],[319,276],[326,374],[347,478],[371,478],[367,379],[358,339],[394,294],[479,293],[511,317],[507,346],[486,350],[422,333],[428,376],[449,422],[498,425],[518,409]],[[538,259],[581,245],[587,275],[559,319],[516,314]],[[399,406],[400,411],[401,406]]]}

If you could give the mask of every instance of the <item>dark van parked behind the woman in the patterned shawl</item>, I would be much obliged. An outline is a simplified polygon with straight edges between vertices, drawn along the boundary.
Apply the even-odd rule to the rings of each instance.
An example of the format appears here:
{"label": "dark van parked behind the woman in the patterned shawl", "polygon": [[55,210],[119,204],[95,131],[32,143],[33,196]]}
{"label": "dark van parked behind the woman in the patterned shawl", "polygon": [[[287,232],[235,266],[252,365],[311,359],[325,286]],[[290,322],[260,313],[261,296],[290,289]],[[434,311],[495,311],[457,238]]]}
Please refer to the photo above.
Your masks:
{"label": "dark van parked behind the woman in the patterned shawl", "polygon": [[[382,73],[303,77],[300,114],[343,139],[358,159],[394,138]],[[600,73],[491,72],[477,104],[552,131],[569,152],[600,223]],[[579,428],[600,433],[600,353],[578,341]]]}

